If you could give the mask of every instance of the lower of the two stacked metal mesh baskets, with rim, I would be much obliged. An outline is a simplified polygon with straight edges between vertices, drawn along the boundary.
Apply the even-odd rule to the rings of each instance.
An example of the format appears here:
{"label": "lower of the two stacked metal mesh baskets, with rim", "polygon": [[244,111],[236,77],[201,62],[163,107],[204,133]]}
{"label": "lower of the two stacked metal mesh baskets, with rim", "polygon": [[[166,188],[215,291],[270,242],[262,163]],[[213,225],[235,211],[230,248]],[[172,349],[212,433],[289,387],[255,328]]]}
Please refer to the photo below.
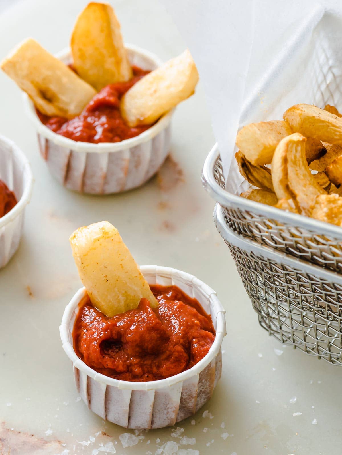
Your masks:
{"label": "lower of the two stacked metal mesh baskets, with rim", "polygon": [[239,236],[219,204],[214,221],[259,324],[284,344],[342,365],[342,277]]}

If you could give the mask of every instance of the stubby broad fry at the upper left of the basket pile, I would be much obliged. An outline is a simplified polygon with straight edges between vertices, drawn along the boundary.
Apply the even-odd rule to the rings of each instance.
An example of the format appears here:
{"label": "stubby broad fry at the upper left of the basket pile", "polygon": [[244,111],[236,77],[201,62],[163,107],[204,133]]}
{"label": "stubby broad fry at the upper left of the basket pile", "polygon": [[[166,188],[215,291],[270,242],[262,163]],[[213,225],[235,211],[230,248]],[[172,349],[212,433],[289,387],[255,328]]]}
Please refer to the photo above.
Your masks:
{"label": "stubby broad fry at the upper left of the basket pile", "polygon": [[278,143],[291,133],[287,121],[250,123],[238,132],[236,145],[252,164],[270,164]]}

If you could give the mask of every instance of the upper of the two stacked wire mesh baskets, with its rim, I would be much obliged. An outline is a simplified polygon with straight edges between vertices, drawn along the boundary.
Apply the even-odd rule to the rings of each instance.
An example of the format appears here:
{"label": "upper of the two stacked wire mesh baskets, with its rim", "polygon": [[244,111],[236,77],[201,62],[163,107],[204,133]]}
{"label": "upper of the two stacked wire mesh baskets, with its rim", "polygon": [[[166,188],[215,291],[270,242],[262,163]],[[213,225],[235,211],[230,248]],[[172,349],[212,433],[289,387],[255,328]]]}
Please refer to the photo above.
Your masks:
{"label": "upper of the two stacked wire mesh baskets, with its rim", "polygon": [[342,271],[342,229],[229,193],[224,189],[217,146],[204,164],[202,180],[222,205],[227,227],[236,233],[321,267]]}

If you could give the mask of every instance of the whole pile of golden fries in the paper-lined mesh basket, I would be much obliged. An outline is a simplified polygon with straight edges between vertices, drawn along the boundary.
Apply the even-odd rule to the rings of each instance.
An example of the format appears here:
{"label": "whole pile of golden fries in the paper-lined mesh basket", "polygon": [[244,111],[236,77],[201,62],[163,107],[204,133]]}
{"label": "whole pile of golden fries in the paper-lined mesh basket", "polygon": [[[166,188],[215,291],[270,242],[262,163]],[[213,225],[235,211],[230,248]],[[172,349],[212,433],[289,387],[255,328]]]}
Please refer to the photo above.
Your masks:
{"label": "whole pile of golden fries in the paper-lined mesh basket", "polygon": [[238,132],[239,170],[257,187],[241,196],[342,226],[342,115],[297,104],[283,119]]}

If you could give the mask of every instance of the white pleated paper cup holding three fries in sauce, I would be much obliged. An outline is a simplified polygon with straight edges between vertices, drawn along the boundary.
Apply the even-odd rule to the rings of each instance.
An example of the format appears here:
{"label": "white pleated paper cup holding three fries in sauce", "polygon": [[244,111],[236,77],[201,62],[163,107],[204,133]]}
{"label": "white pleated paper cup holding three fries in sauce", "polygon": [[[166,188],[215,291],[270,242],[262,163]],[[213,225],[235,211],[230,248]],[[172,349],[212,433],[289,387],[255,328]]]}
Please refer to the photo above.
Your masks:
{"label": "white pleated paper cup holding three fries in sauce", "polygon": [[[157,56],[137,46],[126,45],[126,49],[131,64],[144,70],[154,70],[162,63]],[[59,53],[58,58],[70,63],[70,51]],[[24,104],[51,174],[70,190],[109,194],[139,187],[158,171],[169,153],[173,111],[139,136],[121,142],[92,144],[60,136],[43,125],[26,94]]]}

